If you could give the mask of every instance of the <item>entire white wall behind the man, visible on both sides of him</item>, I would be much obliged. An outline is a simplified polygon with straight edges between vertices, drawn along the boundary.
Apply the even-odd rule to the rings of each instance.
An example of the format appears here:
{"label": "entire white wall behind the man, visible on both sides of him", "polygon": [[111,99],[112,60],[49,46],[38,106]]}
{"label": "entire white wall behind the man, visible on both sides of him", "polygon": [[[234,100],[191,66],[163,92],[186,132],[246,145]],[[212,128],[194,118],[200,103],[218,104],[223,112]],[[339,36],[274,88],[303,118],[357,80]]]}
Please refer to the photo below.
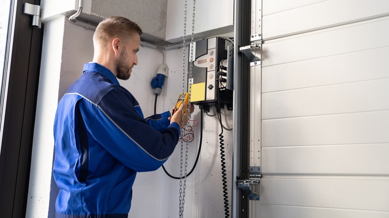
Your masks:
{"label": "entire white wall behind the man, visible on both sides of him", "polygon": [[[85,2],[90,5],[90,1]],[[91,61],[93,57],[93,31],[74,25],[67,17],[60,14],[76,8],[77,4],[78,1],[58,1],[54,4],[53,1],[42,0],[45,32],[27,202],[26,217],[28,218],[46,218],[54,214],[54,201],[58,191],[51,177],[54,114],[60,98],[82,74],[83,64]],[[179,93],[182,92],[182,52],[182,49],[166,52],[166,64],[170,68],[169,78],[166,79],[162,95],[158,98],[157,112],[171,109]],[[119,82],[137,98],[145,116],[149,116],[154,111],[154,95],[150,82],[158,66],[163,62],[163,55],[158,50],[142,47],[138,57],[139,64],[134,67],[131,78]],[[214,109],[211,109],[210,113],[213,114]],[[223,111],[223,114],[226,114],[223,115],[224,125],[231,127],[232,111]],[[193,118],[200,120],[198,109],[195,109]],[[199,129],[200,125],[194,128],[196,138],[189,146],[188,171],[194,164],[198,149]],[[186,217],[223,217],[217,136],[219,131],[216,117],[207,117],[204,114],[200,160],[186,183]],[[231,159],[232,131],[224,130],[224,140],[228,160]],[[179,163],[180,144],[166,163],[166,168],[173,175],[179,176]],[[230,163],[227,161],[228,178],[231,175]],[[229,188],[230,183],[231,180],[228,179]],[[130,217],[178,216],[179,181],[169,178],[162,169],[139,173],[133,188],[134,197]]]}

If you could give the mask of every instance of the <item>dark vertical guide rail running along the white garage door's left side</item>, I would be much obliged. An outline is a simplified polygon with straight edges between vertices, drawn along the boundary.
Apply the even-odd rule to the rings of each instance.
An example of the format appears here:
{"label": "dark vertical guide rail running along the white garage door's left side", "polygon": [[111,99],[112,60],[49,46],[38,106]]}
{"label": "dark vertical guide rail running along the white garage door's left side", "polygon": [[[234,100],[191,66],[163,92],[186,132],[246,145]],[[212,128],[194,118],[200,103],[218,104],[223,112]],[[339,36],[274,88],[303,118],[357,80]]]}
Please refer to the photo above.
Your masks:
{"label": "dark vertical guide rail running along the white garage door's left side", "polygon": [[233,218],[248,217],[248,198],[237,188],[237,180],[248,178],[249,166],[249,63],[246,56],[239,53],[239,47],[250,44],[251,0],[235,0],[234,5],[234,126],[232,163],[232,209]]}

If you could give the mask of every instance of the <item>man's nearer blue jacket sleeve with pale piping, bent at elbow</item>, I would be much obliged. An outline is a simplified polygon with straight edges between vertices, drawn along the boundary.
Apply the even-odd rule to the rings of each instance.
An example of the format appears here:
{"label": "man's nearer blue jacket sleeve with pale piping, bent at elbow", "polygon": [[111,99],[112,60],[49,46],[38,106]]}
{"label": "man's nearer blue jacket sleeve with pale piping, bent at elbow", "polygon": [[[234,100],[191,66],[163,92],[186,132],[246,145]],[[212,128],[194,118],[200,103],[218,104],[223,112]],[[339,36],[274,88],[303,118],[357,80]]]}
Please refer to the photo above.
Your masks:
{"label": "man's nearer blue jacket sleeve with pale piping, bent at elbow", "polygon": [[[111,90],[99,104],[83,101],[80,107],[93,113],[82,114],[93,138],[125,166],[153,171],[164,164],[179,140],[178,123],[158,131],[136,112],[132,101],[120,90]],[[83,109],[81,109],[83,111]]]}

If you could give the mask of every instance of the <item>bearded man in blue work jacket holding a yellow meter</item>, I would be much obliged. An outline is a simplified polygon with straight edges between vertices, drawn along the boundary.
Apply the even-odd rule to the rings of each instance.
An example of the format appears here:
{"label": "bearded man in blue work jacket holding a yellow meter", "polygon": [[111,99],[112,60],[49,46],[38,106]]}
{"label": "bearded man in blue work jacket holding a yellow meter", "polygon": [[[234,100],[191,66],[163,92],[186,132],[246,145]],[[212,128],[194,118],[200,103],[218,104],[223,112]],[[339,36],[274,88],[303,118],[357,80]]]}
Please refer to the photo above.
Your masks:
{"label": "bearded man in blue work jacket holding a yellow meter", "polygon": [[184,107],[172,117],[167,111],[144,119],[116,79],[129,79],[138,64],[141,33],[124,17],[102,21],[93,36],[93,62],[58,103],[57,218],[127,218],[136,173],[157,170],[177,145],[188,120]]}

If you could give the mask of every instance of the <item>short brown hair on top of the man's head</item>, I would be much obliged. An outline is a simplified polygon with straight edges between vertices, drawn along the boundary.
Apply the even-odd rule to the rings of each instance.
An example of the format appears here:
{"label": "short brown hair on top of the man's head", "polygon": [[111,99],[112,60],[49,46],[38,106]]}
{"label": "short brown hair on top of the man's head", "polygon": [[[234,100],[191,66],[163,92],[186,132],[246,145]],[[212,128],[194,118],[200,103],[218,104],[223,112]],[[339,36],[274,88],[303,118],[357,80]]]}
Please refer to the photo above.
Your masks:
{"label": "short brown hair on top of the man's head", "polygon": [[126,40],[132,34],[142,34],[142,29],[134,21],[122,16],[111,16],[99,23],[93,35],[93,41],[108,42],[113,37]]}

